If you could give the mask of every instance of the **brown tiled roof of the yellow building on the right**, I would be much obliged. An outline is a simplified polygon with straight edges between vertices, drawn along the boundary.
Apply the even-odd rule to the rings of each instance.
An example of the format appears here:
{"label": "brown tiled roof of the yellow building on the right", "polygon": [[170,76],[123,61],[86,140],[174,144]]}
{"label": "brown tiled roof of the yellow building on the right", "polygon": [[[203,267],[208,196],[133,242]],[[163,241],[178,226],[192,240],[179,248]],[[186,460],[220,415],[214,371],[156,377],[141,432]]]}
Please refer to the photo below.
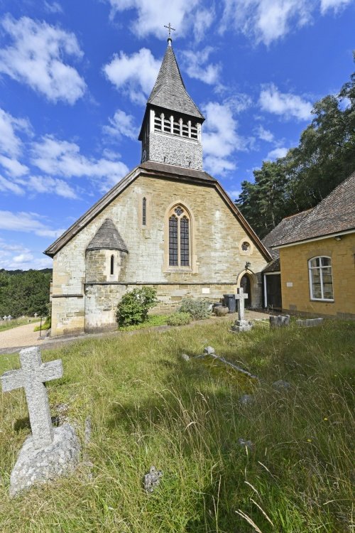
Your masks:
{"label": "brown tiled roof of the yellow building on the right", "polygon": [[355,231],[355,172],[315,208],[284,218],[263,239],[263,244],[280,247],[352,230]]}

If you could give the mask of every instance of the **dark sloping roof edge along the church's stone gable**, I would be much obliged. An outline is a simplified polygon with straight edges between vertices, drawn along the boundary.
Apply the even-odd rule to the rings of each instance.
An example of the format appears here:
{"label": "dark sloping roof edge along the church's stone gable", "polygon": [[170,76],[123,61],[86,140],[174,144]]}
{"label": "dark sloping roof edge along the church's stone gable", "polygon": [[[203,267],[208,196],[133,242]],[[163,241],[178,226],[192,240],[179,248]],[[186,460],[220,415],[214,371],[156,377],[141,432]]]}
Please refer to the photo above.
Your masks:
{"label": "dark sloping roof edge along the church's stone gable", "polygon": [[[133,168],[130,173],[122,178],[119,183],[114,185],[114,187],[111,188],[108,193],[98,200],[97,203],[92,206],[92,208],[87,210],[87,212],[85,212],[84,215],[77,220],[77,222],[75,222],[66,232],[58,237],[53,244],[50,244],[44,253],[49,257],[54,257],[55,254],[60,251],[60,249],[65,247],[65,245],[70,242],[70,240],[75,237],[80,230],[82,230],[83,227],[94,220],[94,217],[99,215],[99,213],[102,212],[113,200],[115,200],[115,198],[117,198],[122,191],[128,188],[129,185],[131,185],[131,183],[138,178],[138,176],[150,176],[151,178],[155,179],[168,179],[171,181],[178,181],[179,183],[192,183],[194,185],[204,185],[216,189],[217,193],[219,193],[219,195],[223,198],[226,205],[228,205],[231,212],[233,212],[234,216],[239,221],[241,227],[244,228],[246,235],[249,235],[249,237],[256,244],[256,247],[258,247],[261,254],[263,254],[263,257],[265,257],[267,261],[271,260],[271,254],[268,252],[268,249],[266,249],[266,247],[263,245],[239,209],[232,202],[231,198],[229,198],[229,195],[227,195],[222,185],[220,185],[216,179],[212,178],[212,176],[209,176],[209,174],[204,171],[197,171],[193,168],[185,168],[182,166],[179,167],[175,165],[167,165],[165,163],[156,163],[153,161],[146,161],[146,163],[142,163],[141,165],[136,166],[136,168]],[[233,235],[231,235],[231,239],[232,238],[234,238]]]}

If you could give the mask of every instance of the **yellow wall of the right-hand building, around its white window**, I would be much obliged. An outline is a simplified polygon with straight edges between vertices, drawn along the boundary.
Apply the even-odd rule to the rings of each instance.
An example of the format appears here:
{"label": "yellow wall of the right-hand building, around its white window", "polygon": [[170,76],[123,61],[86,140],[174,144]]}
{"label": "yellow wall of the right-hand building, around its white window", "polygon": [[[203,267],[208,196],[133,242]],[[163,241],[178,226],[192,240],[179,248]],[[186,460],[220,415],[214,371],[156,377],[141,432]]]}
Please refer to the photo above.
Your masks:
{"label": "yellow wall of the right-hand building, around its white window", "polygon": [[[283,308],[290,313],[355,319],[355,234],[280,249]],[[334,301],[310,298],[308,260],[332,258]]]}

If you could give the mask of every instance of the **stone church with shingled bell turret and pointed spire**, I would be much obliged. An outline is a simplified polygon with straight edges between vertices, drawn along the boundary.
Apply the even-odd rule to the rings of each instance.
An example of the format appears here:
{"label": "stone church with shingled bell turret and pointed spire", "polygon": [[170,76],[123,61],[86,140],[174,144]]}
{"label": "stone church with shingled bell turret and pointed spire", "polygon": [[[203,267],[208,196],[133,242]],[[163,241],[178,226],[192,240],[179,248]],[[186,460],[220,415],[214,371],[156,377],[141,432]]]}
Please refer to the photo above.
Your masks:
{"label": "stone church with shingled bell turret and pointed spire", "polygon": [[262,303],[271,260],[219,182],[203,171],[204,117],[187,94],[172,41],[146,105],[141,163],[45,250],[53,257],[52,335],[114,328],[126,291],[152,286],[171,311],[243,286]]}

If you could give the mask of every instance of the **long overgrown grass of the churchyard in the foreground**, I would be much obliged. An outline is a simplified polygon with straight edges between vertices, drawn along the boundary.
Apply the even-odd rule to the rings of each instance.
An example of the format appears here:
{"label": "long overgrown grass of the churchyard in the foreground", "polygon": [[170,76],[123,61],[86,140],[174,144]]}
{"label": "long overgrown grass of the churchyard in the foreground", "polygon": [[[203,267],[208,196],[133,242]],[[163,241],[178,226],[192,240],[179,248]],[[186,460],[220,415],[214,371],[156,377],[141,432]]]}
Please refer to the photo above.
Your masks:
{"label": "long overgrown grass of the churchyard in the foreground", "polygon": [[[259,381],[182,359],[207,345]],[[75,475],[11,500],[30,430],[23,389],[2,394],[1,533],[351,532],[354,347],[344,321],[239,334],[216,321],[43,352],[64,365],[47,384],[52,416],[82,440],[90,416],[92,438]],[[1,356],[0,374],[14,368],[18,355]],[[147,494],[152,465],[163,478]]]}

